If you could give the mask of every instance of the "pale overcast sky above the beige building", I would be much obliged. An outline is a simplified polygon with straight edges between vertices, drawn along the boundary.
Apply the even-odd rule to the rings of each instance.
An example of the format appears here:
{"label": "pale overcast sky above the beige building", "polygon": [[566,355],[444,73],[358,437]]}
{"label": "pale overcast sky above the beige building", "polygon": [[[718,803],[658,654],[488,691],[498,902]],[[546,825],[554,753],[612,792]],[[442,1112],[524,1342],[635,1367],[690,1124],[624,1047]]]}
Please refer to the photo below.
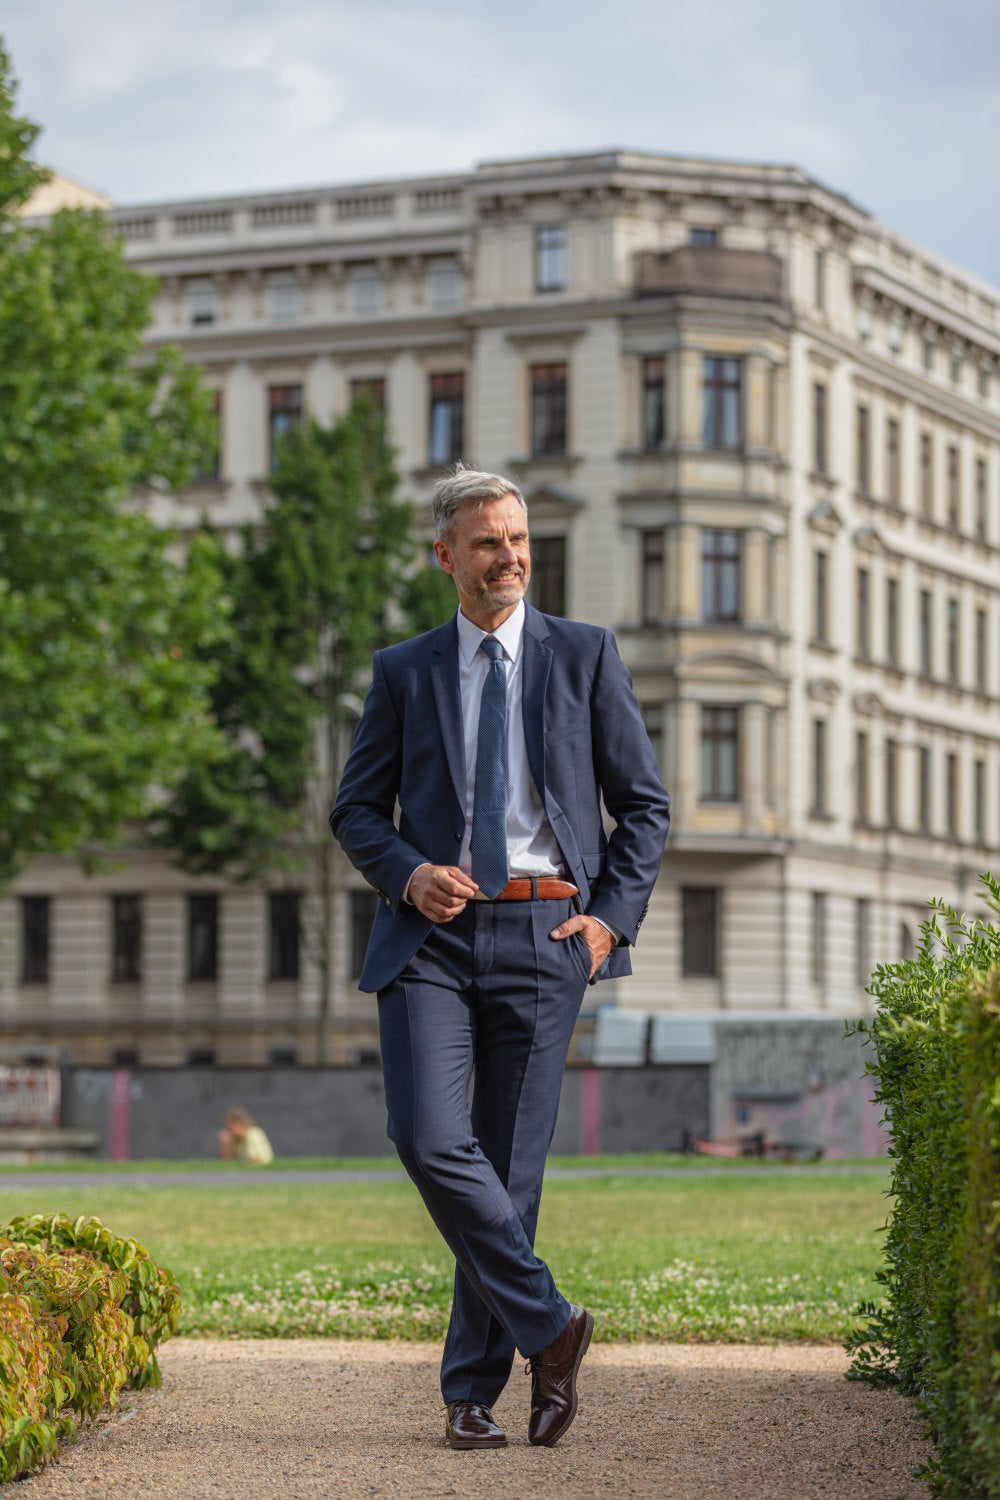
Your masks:
{"label": "pale overcast sky above the beige building", "polygon": [[1000,284],[1000,0],[0,0],[117,202],[637,147],[795,162]]}

